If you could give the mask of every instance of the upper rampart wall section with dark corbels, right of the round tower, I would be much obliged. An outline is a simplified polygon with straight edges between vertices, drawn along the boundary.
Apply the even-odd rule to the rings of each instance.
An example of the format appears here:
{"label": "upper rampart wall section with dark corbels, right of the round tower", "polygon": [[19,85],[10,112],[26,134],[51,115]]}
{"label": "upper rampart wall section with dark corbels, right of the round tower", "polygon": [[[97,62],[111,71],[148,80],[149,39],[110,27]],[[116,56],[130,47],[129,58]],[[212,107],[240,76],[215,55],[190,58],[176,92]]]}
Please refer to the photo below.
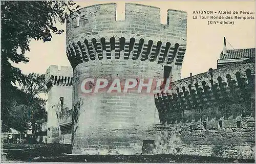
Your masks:
{"label": "upper rampart wall section with dark corbels, right of the round tower", "polygon": [[155,95],[161,122],[254,115],[254,63],[249,59],[173,82],[170,92]]}

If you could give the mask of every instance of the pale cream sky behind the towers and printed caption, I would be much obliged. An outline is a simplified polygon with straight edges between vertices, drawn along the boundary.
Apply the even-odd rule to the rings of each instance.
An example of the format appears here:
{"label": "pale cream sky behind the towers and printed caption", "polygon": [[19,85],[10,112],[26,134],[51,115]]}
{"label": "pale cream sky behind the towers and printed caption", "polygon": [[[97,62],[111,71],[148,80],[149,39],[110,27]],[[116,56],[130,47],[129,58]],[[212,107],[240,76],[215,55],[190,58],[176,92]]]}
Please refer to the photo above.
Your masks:
{"label": "pale cream sky behind the towers and printed caption", "polygon": [[[183,10],[187,12],[187,50],[182,65],[182,78],[208,71],[210,67],[217,67],[217,60],[223,50],[223,37],[234,49],[255,48],[255,14],[235,14],[238,16],[254,16],[252,20],[232,19],[234,25],[207,25],[207,20],[193,19],[194,10],[225,11],[254,11],[255,1],[74,1],[81,7],[94,4],[117,3],[117,20],[124,19],[124,4],[137,3],[159,7],[161,9],[161,23],[166,24],[167,9]],[[227,16],[223,14],[223,16]],[[234,14],[230,14],[233,16]],[[66,25],[58,25],[66,30]],[[227,49],[233,49],[227,43]],[[66,56],[66,33],[53,35],[50,42],[32,40],[30,58],[27,64],[18,64],[23,73],[45,74],[49,65],[69,65]],[[13,64],[14,65],[14,64]]]}

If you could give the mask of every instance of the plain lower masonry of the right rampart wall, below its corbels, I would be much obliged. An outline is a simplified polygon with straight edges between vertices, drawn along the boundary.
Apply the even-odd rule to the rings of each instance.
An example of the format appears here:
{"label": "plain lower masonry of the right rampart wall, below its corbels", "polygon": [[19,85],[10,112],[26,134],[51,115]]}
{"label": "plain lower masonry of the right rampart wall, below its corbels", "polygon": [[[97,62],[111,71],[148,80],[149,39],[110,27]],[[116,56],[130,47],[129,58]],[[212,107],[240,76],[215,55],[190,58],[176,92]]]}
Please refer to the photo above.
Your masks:
{"label": "plain lower masonry of the right rampart wall, below its corbels", "polygon": [[[240,124],[240,126],[238,126]],[[202,122],[158,125],[152,154],[184,154],[222,158],[254,159],[255,119],[246,116],[238,121],[211,120]]]}

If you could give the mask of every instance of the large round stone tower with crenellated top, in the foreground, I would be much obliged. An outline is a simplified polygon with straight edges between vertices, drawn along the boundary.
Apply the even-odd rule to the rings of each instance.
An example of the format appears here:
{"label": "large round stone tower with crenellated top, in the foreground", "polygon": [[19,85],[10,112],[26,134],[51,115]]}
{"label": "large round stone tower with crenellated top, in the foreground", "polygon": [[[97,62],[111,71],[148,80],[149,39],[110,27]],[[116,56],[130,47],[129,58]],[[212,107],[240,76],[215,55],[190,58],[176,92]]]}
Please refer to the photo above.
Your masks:
{"label": "large round stone tower with crenellated top, in the foreground", "polygon": [[67,24],[67,56],[73,67],[73,134],[75,154],[141,154],[150,127],[160,123],[153,94],[137,92],[84,94],[87,78],[172,81],[181,78],[186,50],[187,14],[125,4],[125,20],[116,21],[116,4],[80,10]]}

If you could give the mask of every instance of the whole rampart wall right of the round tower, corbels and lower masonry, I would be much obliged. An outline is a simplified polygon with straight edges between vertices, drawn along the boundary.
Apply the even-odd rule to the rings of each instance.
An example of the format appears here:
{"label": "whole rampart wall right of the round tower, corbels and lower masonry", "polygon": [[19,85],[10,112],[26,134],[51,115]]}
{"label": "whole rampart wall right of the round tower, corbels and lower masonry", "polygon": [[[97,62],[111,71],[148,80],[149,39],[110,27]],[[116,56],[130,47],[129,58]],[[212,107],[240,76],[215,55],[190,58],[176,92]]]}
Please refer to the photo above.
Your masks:
{"label": "whole rampart wall right of the round tower, corbels and lower masonry", "polygon": [[162,125],[151,153],[254,159],[254,63],[181,79],[156,95]]}

